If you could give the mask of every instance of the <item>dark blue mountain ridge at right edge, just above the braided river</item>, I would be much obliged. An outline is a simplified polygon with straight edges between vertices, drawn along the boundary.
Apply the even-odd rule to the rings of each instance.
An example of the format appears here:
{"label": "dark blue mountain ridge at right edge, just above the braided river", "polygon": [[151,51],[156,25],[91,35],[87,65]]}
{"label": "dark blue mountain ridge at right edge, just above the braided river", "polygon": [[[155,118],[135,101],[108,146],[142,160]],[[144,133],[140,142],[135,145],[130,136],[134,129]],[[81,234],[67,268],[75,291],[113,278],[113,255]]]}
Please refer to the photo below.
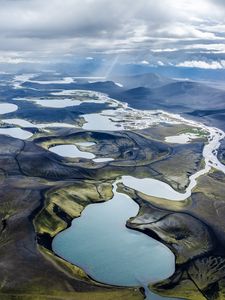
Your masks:
{"label": "dark blue mountain ridge at right edge, just above the braided river", "polygon": [[205,84],[177,81],[159,88],[139,87],[110,94],[138,109],[162,109],[225,130],[225,91]]}

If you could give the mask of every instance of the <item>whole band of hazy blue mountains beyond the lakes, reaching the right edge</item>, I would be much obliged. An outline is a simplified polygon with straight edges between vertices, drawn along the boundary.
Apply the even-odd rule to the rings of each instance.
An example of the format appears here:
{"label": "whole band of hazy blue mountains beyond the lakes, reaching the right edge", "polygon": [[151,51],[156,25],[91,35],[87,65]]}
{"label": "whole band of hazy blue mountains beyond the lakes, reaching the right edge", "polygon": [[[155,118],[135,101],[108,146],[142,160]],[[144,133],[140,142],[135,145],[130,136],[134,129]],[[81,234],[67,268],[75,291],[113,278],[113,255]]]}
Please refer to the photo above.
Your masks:
{"label": "whole band of hazy blue mountains beyond the lakes, reaching the right edge", "polygon": [[[41,77],[40,77],[41,78]],[[40,79],[39,78],[39,79]],[[25,82],[24,86],[50,89],[87,89],[109,94],[139,109],[162,109],[191,115],[208,125],[224,129],[225,90],[190,80],[175,80],[155,73],[112,76],[107,80],[75,79],[69,84]]]}

